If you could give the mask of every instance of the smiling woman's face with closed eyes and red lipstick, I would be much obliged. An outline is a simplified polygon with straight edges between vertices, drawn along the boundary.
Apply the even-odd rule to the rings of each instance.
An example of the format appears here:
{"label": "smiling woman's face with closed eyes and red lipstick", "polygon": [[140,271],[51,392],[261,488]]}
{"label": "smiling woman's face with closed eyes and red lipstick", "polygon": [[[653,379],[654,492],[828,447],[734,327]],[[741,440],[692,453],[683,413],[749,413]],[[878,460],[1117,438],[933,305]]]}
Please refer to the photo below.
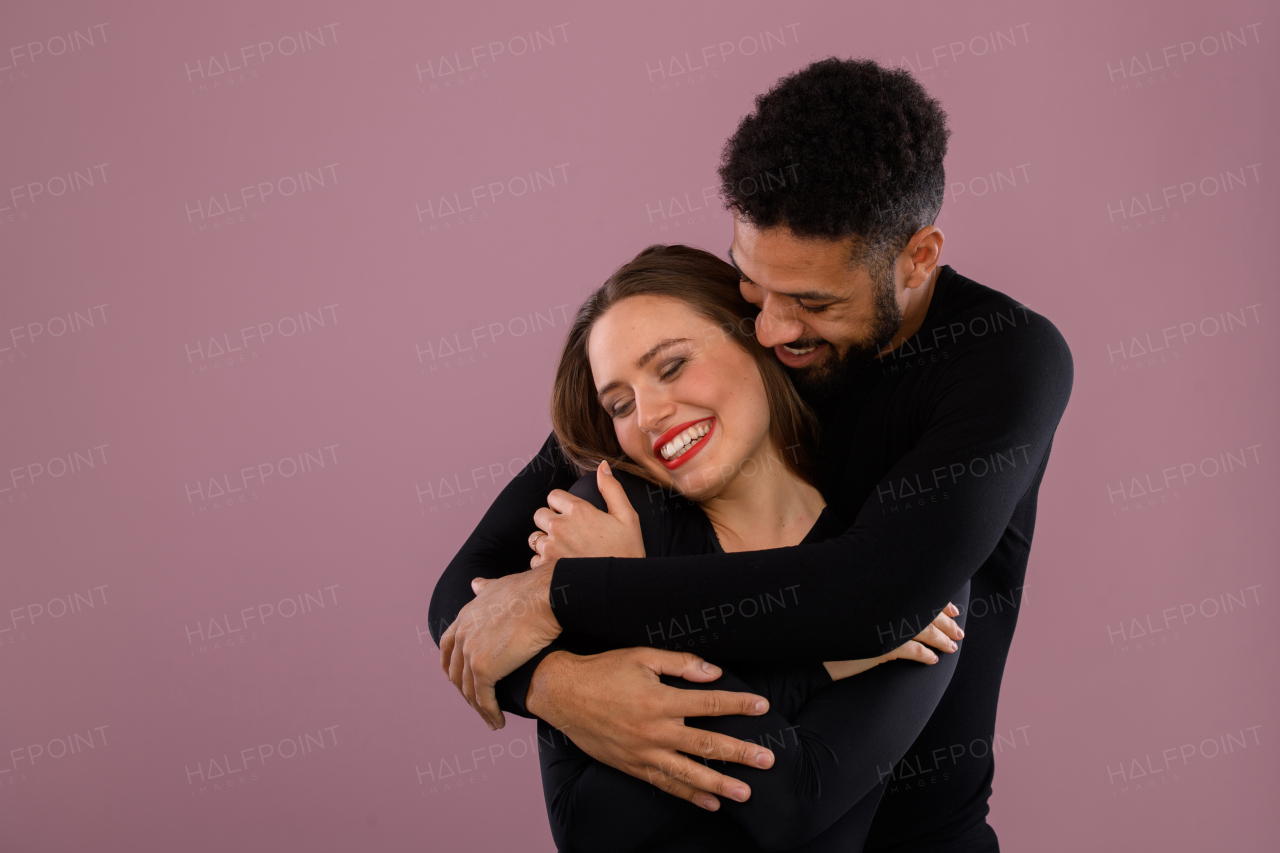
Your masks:
{"label": "smiling woman's face with closed eyes and red lipstick", "polygon": [[686,302],[632,296],[591,328],[588,356],[622,451],[694,500],[781,464],[755,360]]}

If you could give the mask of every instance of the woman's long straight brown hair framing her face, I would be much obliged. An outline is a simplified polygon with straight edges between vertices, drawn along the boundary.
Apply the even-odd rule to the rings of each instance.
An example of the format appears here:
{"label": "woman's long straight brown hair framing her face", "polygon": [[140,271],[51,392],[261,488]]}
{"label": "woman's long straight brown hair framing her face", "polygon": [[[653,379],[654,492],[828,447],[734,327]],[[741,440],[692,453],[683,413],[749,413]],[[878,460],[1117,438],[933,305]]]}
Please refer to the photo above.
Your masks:
{"label": "woman's long straight brown hair framing her face", "polygon": [[769,403],[769,434],[783,462],[817,485],[814,448],[818,419],[800,398],[777,357],[755,339],[758,310],[742,298],[740,275],[710,252],[691,246],[650,246],[609,277],[579,309],[570,327],[552,391],[552,425],[564,456],[586,474],[602,460],[646,480],[653,475],[622,452],[613,421],[595,393],[586,352],[591,327],[605,311],[632,296],[677,298],[714,324],[755,360]]}

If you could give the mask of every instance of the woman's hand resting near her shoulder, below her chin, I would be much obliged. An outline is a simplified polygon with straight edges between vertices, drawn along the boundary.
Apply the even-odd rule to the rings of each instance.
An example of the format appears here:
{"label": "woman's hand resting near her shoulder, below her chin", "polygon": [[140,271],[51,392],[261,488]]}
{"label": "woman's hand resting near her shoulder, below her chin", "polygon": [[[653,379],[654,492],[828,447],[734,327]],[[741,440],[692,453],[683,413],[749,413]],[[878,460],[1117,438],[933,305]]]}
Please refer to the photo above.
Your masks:
{"label": "woman's hand resting near her shoulder, below her chin", "polygon": [[529,561],[531,569],[553,564],[561,557],[645,556],[640,516],[631,508],[631,501],[608,462],[600,462],[595,469],[595,483],[609,507],[608,512],[600,512],[582,498],[561,489],[547,496],[549,506],[534,514],[534,524],[539,529],[529,537],[529,547],[538,552]]}

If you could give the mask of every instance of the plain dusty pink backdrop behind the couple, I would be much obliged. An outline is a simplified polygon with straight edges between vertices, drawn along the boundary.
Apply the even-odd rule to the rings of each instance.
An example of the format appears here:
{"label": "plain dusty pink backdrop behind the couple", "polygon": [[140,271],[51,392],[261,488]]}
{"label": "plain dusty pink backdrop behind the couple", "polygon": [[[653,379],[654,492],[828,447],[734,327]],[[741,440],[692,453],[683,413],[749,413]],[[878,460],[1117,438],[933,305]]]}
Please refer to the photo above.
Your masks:
{"label": "plain dusty pink backdrop behind the couple", "polygon": [[945,261],[1075,356],[992,824],[1274,849],[1274,5],[24,5],[0,848],[553,849],[534,726],[444,680],[433,585],[548,432],[566,313],[652,242],[722,252],[721,145],[837,54],[942,100]]}

